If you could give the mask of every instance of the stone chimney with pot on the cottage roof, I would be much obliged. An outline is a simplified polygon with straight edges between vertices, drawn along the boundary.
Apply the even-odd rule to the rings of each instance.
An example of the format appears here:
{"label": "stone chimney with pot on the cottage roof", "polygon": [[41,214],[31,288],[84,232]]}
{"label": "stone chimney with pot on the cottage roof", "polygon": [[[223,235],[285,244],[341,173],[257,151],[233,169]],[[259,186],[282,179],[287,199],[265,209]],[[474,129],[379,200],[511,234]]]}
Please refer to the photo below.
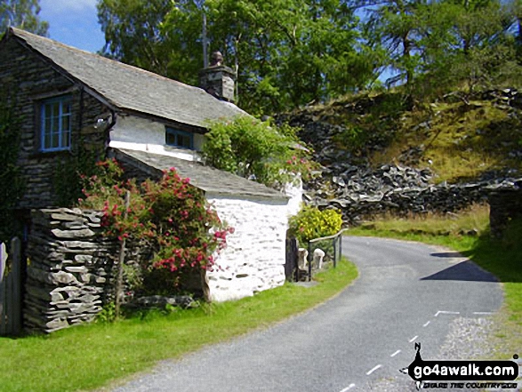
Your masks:
{"label": "stone chimney with pot on the cottage roof", "polygon": [[208,68],[203,68],[199,72],[200,87],[218,100],[234,102],[234,84],[236,74],[223,65],[221,52],[213,52]]}

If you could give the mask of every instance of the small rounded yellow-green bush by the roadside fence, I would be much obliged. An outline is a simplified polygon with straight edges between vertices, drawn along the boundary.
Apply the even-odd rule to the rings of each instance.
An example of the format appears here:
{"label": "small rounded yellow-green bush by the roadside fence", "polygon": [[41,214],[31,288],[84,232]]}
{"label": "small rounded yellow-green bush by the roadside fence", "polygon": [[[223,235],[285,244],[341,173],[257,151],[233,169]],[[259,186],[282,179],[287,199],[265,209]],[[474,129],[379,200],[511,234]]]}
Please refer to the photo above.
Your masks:
{"label": "small rounded yellow-green bush by the roadside fence", "polygon": [[333,236],[341,230],[341,212],[336,210],[320,211],[317,207],[304,206],[290,218],[290,233],[300,244],[322,236]]}

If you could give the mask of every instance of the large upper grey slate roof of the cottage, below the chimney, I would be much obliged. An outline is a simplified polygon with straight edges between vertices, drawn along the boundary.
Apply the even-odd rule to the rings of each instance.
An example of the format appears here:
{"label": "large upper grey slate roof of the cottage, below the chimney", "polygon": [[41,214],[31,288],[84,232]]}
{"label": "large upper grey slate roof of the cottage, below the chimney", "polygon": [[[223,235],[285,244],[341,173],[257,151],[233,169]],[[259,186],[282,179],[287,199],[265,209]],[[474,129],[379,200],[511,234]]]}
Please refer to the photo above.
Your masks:
{"label": "large upper grey slate roof of the cottage, below the chimney", "polygon": [[68,76],[100,94],[114,108],[199,127],[205,127],[207,120],[246,115],[236,105],[217,100],[200,88],[141,68],[84,52],[19,28],[10,28],[7,36],[16,37],[21,44],[51,60]]}

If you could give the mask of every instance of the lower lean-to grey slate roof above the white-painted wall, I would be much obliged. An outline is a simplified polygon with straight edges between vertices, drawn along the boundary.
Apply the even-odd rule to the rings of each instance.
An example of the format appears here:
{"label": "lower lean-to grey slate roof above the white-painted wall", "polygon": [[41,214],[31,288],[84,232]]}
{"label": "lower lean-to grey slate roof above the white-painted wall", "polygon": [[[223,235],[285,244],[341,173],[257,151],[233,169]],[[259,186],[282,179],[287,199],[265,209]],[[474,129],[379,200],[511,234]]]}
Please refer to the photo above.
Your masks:
{"label": "lower lean-to grey slate roof above the white-painted wall", "polygon": [[136,151],[124,148],[112,148],[116,153],[124,157],[131,157],[148,168],[159,171],[175,168],[181,177],[189,178],[190,184],[205,192],[228,196],[257,196],[288,200],[288,196],[275,189],[265,187],[258,182],[246,180],[229,172],[213,169],[197,162],[186,161],[173,156],[152,154],[146,151]]}

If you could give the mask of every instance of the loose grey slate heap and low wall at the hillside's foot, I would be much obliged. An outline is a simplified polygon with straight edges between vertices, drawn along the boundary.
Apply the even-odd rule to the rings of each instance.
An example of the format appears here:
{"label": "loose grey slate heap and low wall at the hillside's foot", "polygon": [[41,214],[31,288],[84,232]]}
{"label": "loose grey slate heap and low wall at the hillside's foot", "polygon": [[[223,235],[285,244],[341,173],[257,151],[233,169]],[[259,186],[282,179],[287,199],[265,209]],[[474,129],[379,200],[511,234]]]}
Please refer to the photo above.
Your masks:
{"label": "loose grey slate heap and low wall at the hillside's foot", "polygon": [[456,212],[473,203],[486,202],[497,188],[518,189],[522,179],[496,178],[462,184],[433,185],[429,170],[398,165],[347,167],[340,175],[326,168],[321,176],[307,184],[305,197],[319,208],[341,210],[343,220],[357,225],[376,214]]}

